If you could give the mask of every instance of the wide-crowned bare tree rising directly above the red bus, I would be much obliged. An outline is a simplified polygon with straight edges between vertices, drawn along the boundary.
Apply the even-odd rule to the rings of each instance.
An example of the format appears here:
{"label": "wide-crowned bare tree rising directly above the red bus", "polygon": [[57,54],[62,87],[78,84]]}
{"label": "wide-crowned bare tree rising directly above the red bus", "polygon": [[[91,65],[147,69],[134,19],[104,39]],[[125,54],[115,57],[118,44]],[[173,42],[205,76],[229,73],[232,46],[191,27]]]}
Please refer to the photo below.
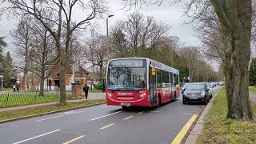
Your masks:
{"label": "wide-crowned bare tree rising directly above the red bus", "polygon": [[130,14],[126,21],[118,22],[112,29],[112,44],[121,56],[152,58],[161,38],[166,37],[169,29],[169,26],[156,22],[152,17],[139,13]]}

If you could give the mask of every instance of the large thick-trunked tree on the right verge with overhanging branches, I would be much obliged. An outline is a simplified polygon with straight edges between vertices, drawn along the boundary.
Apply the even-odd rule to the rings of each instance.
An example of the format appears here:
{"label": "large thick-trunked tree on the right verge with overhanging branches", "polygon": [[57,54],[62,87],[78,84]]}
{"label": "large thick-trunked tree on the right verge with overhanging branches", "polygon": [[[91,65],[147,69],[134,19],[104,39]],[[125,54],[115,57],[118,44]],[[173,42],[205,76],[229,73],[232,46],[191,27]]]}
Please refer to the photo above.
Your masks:
{"label": "large thick-trunked tree on the right verge with overhanging branches", "polygon": [[[152,1],[123,0],[130,6]],[[163,0],[155,1],[161,5]],[[170,0],[170,2],[181,2]],[[186,14],[192,21],[210,6],[218,16],[220,41],[223,47],[223,68],[228,100],[227,118],[253,120],[248,90],[248,66],[250,62],[250,42],[252,38],[252,0],[190,0],[186,3]],[[190,13],[192,12],[192,14]],[[190,15],[191,14],[191,15]]]}

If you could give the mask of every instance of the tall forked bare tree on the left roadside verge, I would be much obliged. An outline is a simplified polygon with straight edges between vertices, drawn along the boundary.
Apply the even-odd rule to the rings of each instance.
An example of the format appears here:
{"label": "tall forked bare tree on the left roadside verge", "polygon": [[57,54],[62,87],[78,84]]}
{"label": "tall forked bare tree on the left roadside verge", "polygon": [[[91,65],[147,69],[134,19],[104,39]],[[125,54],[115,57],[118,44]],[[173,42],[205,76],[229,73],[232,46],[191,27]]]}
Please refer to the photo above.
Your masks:
{"label": "tall forked bare tree on the left roadside verge", "polygon": [[[60,102],[66,103],[66,67],[71,58],[70,38],[74,30],[84,29],[94,18],[101,17],[106,12],[104,0],[7,0],[7,10],[15,14],[28,14],[33,16],[49,31],[54,38],[58,50],[60,64]],[[74,21],[74,10],[82,10],[83,18]],[[51,26],[54,24],[54,26]],[[62,39],[62,32],[65,38]],[[62,43],[64,46],[62,46]]]}

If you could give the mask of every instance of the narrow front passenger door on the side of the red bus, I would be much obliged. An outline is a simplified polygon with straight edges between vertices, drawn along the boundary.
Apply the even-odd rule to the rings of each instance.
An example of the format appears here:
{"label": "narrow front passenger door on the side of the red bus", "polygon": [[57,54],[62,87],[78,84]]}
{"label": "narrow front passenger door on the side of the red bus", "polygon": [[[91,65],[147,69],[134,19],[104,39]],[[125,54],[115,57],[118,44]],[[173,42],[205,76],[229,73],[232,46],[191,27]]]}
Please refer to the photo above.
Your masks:
{"label": "narrow front passenger door on the side of the red bus", "polygon": [[157,102],[157,85],[156,85],[156,70],[154,67],[150,67],[149,73],[150,80],[150,102],[152,104]]}

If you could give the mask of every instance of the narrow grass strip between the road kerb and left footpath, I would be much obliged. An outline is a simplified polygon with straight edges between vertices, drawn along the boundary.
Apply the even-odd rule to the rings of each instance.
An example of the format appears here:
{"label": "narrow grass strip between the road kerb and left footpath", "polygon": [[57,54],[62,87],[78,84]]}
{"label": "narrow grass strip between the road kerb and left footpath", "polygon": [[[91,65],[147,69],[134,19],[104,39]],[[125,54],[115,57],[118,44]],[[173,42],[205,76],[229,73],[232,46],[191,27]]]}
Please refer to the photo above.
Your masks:
{"label": "narrow grass strip between the road kerb and left footpath", "polygon": [[106,102],[106,100],[92,99],[92,100],[87,100],[85,102],[68,102],[66,103],[65,106],[56,104],[56,105],[49,105],[49,106],[38,106],[38,107],[27,108],[23,110],[3,111],[3,112],[0,112],[0,121],[12,119],[12,118],[21,118],[29,115],[34,115],[34,114],[44,114],[44,113],[49,113],[56,110],[66,110],[66,109],[71,109],[78,106],[89,106],[99,102]]}

